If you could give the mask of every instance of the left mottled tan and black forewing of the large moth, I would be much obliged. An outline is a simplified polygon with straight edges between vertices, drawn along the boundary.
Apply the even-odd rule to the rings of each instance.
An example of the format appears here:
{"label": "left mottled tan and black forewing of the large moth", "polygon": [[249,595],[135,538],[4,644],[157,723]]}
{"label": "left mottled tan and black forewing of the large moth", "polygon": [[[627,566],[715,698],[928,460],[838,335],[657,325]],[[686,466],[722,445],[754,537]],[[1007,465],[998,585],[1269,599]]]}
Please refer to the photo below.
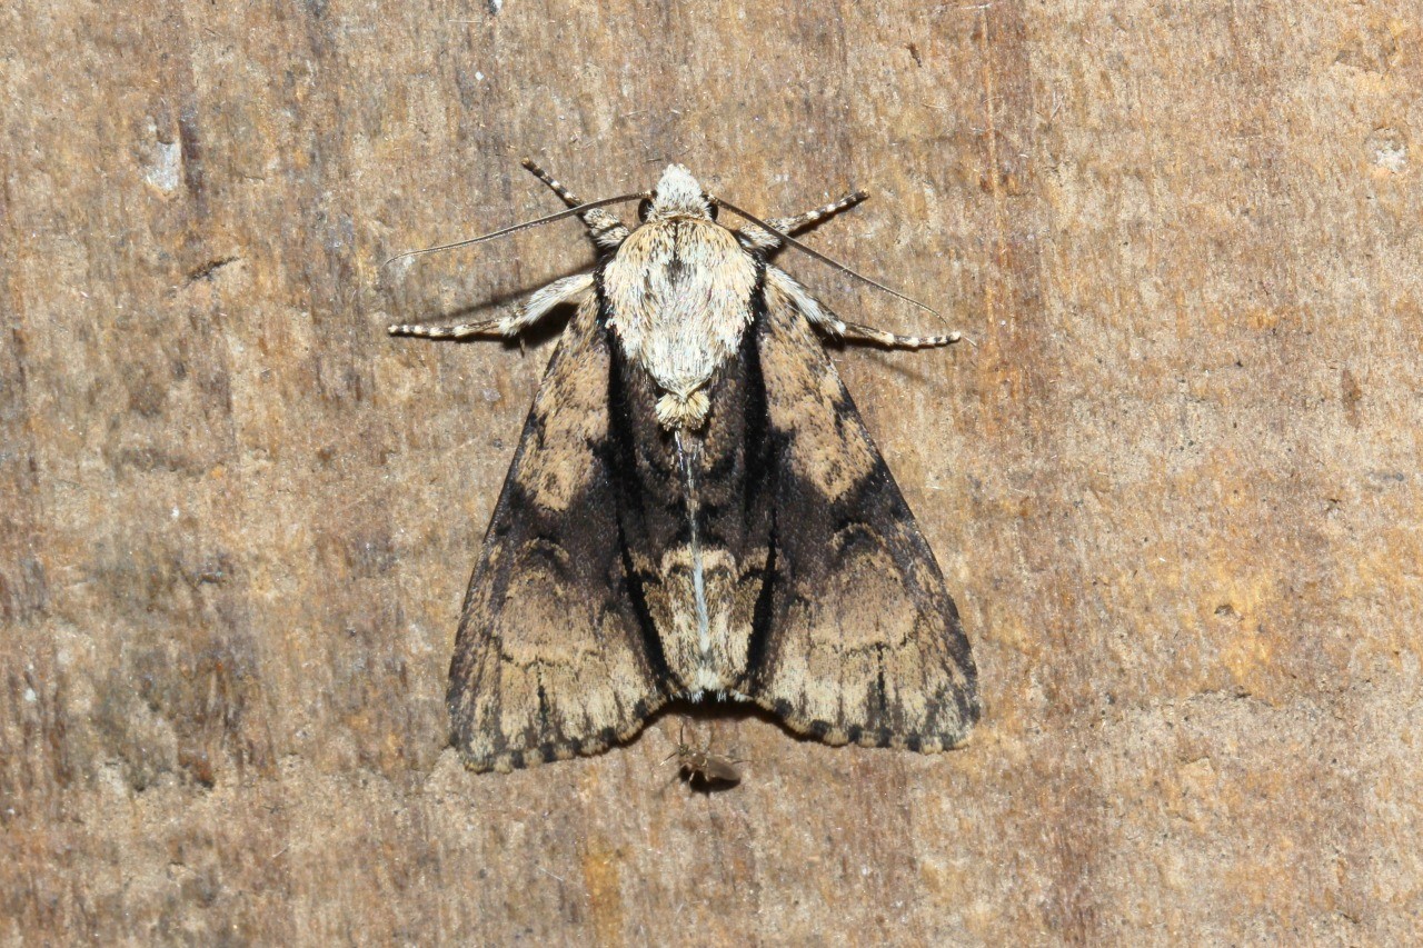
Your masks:
{"label": "left mottled tan and black forewing of the large moth", "polygon": [[465,596],[448,702],[472,770],[596,753],[665,700],[619,539],[608,386],[589,295],[549,362]]}

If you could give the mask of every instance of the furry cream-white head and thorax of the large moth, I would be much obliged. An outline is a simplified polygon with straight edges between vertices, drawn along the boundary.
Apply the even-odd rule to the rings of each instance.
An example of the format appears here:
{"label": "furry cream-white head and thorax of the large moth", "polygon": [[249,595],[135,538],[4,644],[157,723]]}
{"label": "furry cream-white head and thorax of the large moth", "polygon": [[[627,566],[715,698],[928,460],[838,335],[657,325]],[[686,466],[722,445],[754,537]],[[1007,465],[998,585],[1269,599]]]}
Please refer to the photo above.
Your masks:
{"label": "furry cream-white head and thorax of the large moth", "polygon": [[646,223],[603,270],[609,326],[665,393],[656,407],[663,426],[696,428],[706,418],[704,387],[736,354],[754,288],[753,258],[712,219],[696,178],[669,165]]}

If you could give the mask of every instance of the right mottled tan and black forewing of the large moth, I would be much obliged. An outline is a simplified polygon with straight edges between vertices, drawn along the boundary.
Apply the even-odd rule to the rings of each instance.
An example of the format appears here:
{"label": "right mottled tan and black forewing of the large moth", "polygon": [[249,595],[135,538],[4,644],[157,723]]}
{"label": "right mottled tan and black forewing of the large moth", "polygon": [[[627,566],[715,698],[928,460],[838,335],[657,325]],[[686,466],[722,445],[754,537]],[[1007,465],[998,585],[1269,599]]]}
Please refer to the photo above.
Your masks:
{"label": "right mottled tan and black forewing of the large moth", "polygon": [[978,673],[933,554],[805,319],[766,303],[776,514],[750,693],[827,743],[962,743]]}

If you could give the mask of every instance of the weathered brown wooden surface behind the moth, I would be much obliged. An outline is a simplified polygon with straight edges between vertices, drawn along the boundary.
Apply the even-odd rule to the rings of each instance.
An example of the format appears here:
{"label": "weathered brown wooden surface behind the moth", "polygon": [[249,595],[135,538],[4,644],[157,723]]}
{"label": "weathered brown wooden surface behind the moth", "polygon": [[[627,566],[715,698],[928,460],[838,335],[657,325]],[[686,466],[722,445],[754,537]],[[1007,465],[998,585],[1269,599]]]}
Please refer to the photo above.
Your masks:
{"label": "weathered brown wooden surface behind the moth", "polygon": [[[1417,4],[0,9],[0,938],[1383,944],[1423,914]],[[669,161],[975,346],[837,353],[975,642],[965,750],[445,746],[552,335]],[[805,258],[847,315],[933,329]]]}

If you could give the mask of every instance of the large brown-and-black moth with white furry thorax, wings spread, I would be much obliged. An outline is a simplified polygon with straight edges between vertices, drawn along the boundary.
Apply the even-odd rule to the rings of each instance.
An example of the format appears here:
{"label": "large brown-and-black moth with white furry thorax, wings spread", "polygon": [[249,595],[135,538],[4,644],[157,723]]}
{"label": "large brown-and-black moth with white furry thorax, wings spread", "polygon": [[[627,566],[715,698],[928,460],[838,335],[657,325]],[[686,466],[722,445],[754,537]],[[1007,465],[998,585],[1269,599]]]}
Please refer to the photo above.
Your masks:
{"label": "large brown-and-black moth with white furry thorax, wings spread", "polygon": [[[465,764],[599,753],[673,699],[754,702],[828,744],[959,744],[979,717],[968,638],[820,339],[959,336],[844,322],[770,262],[820,258],[791,233],[867,195],[763,221],[676,164],[652,192],[589,204],[525,167],[568,209],[411,253],[576,215],[596,266],[494,319],[390,326],[515,337],[576,307],[464,599],[448,706]],[[630,226],[606,209],[626,201]]]}

